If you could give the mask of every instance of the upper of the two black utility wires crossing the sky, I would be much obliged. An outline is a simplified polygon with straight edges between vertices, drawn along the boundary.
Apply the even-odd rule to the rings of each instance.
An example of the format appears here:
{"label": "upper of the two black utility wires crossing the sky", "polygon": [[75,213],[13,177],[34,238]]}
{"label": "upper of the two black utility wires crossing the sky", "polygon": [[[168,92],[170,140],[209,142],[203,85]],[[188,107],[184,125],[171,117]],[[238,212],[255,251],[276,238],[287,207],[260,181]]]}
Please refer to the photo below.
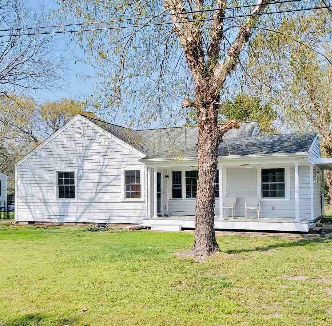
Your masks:
{"label": "upper of the two black utility wires crossing the sky", "polygon": [[[289,2],[300,2],[300,1],[305,1],[305,0],[275,1],[275,2],[266,3],[266,5],[275,5],[275,4],[282,4],[282,3],[289,3]],[[229,8],[225,8],[225,10],[241,9],[241,8],[248,8],[248,7],[255,7],[255,6],[257,6],[257,4],[255,4],[255,5],[238,6],[238,7],[229,7]],[[157,16],[124,18],[124,19],[107,20],[107,21],[90,22],[90,23],[74,23],[74,24],[67,24],[67,25],[35,26],[35,27],[24,27],[24,28],[9,28],[9,29],[5,29],[5,30],[0,30],[0,32],[33,30],[33,29],[41,29],[41,28],[69,27],[69,26],[92,25],[92,24],[119,23],[119,22],[126,22],[126,21],[137,20],[137,19],[150,19],[150,18],[157,18],[157,17],[160,18],[160,17],[169,17],[169,16],[174,16],[174,15],[196,14],[196,13],[209,12],[209,11],[218,11],[218,10],[220,10],[220,8],[218,8],[218,9],[202,9],[202,10],[195,10],[195,11],[187,11],[187,12],[184,12],[184,13],[174,13],[174,14],[157,15]]]}

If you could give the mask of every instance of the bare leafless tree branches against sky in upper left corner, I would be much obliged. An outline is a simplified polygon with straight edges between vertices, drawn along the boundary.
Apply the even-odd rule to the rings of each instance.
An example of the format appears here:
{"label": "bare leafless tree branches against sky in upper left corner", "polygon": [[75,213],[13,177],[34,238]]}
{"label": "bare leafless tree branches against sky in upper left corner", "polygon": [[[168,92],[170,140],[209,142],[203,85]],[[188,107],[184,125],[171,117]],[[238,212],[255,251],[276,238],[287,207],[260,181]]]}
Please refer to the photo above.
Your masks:
{"label": "bare leafless tree branches against sky in upper left corner", "polygon": [[[31,8],[22,0],[0,2],[1,34],[13,35],[0,40],[0,94],[29,94],[37,89],[65,86],[65,64],[55,48],[54,35],[27,35],[20,28],[48,25],[42,6]],[[34,32],[46,30],[35,29]]]}

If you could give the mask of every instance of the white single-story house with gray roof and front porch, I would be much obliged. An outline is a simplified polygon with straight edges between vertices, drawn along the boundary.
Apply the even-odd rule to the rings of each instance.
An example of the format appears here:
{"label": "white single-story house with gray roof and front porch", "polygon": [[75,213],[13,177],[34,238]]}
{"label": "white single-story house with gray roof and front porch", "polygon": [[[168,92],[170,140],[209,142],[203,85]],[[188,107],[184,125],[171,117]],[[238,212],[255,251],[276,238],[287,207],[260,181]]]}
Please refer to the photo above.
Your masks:
{"label": "white single-story house with gray roof and front porch", "polygon": [[[192,228],[196,139],[195,126],[132,130],[77,115],[17,163],[15,220]],[[215,227],[309,231],[324,215],[330,165],[317,133],[262,135],[258,122],[241,123],[218,148]],[[230,198],[233,218],[219,208]],[[255,200],[260,217],[245,218]]]}

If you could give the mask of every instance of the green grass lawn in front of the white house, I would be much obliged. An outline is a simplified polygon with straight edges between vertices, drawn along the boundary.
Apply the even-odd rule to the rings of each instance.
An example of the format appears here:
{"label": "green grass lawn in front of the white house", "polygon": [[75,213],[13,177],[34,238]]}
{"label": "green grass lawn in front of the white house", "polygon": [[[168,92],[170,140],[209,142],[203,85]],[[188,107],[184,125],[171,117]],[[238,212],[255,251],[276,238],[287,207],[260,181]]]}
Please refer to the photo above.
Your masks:
{"label": "green grass lawn in front of the white house", "polygon": [[[0,225],[0,325],[331,325],[332,240]],[[86,312],[80,309],[86,308]]]}

